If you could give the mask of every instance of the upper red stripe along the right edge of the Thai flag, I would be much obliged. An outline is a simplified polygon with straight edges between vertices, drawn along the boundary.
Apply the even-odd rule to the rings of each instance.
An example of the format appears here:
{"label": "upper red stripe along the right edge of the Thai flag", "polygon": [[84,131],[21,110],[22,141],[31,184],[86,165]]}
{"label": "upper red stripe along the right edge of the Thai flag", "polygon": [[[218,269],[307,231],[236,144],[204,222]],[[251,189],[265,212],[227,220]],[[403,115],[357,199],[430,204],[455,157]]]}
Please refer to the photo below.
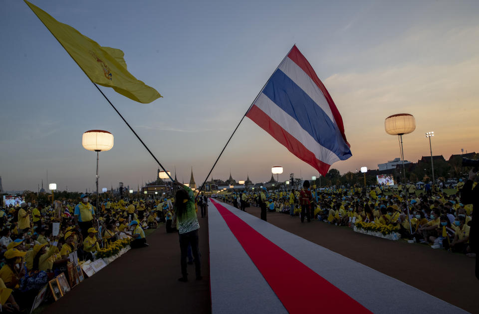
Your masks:
{"label": "upper red stripe along the right edge of the Thai flag", "polygon": [[314,72],[314,69],[311,66],[311,64],[309,64],[308,60],[299,51],[296,45],[292,47],[291,52],[289,52],[288,54],[288,57],[291,60],[293,60],[293,62],[296,63],[306,74],[308,74],[308,76],[311,77],[313,82],[316,83],[318,88],[321,90],[324,97],[329,103],[329,107],[331,108],[331,112],[334,116],[334,120],[336,120],[336,124],[338,125],[339,131],[341,132],[341,135],[343,136],[344,141],[346,142],[346,144],[348,144],[349,147],[351,147],[351,145],[349,145],[346,139],[346,134],[344,134],[343,118],[341,117],[341,114],[339,113],[339,110],[336,107],[336,104],[334,103],[333,98],[331,98],[331,95],[329,94],[328,90],[323,85],[319,77],[316,75],[316,72]]}

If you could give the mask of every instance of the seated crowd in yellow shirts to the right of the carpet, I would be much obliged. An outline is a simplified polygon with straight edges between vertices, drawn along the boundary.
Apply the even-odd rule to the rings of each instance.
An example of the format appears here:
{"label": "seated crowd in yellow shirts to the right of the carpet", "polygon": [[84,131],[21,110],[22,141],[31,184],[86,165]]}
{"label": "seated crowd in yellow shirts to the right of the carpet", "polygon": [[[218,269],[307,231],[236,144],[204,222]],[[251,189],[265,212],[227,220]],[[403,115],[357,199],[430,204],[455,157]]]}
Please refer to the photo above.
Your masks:
{"label": "seated crowd in yellow shirts to the right of the carpet", "polygon": [[[384,229],[398,232],[403,239],[475,257],[476,252],[469,245],[473,205],[461,202],[460,190],[464,183],[462,180],[460,183],[457,193],[451,195],[439,187],[418,190],[414,184],[404,187],[399,184],[394,188],[341,186],[310,189],[311,219],[337,226],[353,227],[359,222],[387,226]],[[245,200],[248,206],[259,206],[259,199],[262,198],[269,212],[300,216],[300,193],[301,189],[263,189],[260,192],[240,191],[216,197],[238,208],[240,200]]]}

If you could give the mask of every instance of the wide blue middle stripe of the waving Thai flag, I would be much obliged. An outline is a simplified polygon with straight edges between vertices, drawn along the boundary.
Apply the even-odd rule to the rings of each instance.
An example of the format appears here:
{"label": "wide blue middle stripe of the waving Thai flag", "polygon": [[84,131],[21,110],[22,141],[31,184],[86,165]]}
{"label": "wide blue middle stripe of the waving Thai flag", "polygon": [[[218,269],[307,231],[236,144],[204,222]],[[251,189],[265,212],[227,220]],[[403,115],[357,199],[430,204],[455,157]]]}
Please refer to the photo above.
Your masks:
{"label": "wide blue middle stripe of the waving Thai flag", "polygon": [[262,92],[339,159],[346,160],[352,156],[336,125],[283,71],[277,69]]}

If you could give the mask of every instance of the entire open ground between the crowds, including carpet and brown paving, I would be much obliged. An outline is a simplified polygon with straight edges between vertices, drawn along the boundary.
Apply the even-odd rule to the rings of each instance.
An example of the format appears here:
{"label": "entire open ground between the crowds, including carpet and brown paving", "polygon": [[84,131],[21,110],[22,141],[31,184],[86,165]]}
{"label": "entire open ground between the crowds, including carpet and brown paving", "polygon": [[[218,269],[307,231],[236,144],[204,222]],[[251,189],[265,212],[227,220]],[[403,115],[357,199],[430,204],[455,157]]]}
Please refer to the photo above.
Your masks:
{"label": "entire open ground between the crowds, including carpet and brown paving", "polygon": [[256,207],[209,203],[199,218],[202,281],[193,265],[190,281],[177,281],[178,235],[161,226],[149,248],[129,251],[44,313],[479,313],[473,259],[258,216]]}

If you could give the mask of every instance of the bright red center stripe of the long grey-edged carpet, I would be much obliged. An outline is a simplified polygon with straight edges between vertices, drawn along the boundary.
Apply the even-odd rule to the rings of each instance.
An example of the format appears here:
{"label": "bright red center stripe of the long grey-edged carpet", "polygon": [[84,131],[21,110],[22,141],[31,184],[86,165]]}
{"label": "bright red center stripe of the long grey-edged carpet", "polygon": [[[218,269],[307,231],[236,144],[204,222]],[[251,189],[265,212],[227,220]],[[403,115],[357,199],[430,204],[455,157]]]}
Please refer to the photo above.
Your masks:
{"label": "bright red center stripe of the long grey-edged carpet", "polygon": [[226,207],[213,204],[289,313],[371,313]]}

